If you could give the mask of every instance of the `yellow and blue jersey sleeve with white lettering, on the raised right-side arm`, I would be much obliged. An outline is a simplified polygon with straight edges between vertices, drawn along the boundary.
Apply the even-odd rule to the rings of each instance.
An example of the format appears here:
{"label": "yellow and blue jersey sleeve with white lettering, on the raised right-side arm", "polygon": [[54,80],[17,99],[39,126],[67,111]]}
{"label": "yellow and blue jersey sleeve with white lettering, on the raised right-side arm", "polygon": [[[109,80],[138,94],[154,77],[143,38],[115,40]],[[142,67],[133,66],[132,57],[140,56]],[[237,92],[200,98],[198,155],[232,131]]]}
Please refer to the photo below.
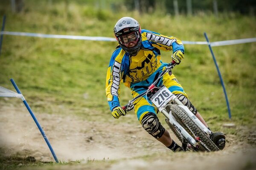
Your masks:
{"label": "yellow and blue jersey sleeve with white lettering, on the raised right-side arm", "polygon": [[143,40],[148,40],[153,47],[163,51],[177,51],[180,50],[184,53],[183,43],[175,37],[165,36],[157,32],[142,30]]}

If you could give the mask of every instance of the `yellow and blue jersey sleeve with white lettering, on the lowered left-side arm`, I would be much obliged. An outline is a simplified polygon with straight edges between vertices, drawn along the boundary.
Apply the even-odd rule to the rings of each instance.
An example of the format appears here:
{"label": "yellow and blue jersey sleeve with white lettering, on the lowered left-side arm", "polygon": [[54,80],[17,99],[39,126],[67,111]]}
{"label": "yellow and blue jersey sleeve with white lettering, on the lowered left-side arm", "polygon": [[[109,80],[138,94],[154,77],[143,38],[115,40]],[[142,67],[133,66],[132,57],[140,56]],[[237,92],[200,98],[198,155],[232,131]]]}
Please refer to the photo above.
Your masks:
{"label": "yellow and blue jersey sleeve with white lettering, on the lowered left-side arm", "polygon": [[108,98],[108,105],[111,111],[113,110],[113,108],[120,106],[119,85],[124,70],[124,66],[122,64],[122,58],[124,55],[122,55],[122,52],[120,53],[120,51],[120,49],[116,49],[112,54],[106,77],[106,96]]}

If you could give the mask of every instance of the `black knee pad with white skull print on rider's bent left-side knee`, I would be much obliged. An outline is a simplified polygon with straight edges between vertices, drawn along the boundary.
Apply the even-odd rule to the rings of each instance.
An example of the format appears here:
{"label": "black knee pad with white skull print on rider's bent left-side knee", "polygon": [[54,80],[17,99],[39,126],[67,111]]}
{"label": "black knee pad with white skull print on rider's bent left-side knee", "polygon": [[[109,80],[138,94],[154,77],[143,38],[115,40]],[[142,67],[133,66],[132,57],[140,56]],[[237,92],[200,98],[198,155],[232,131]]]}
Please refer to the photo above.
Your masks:
{"label": "black knee pad with white skull print on rider's bent left-side knee", "polygon": [[151,134],[154,138],[163,136],[165,128],[159,122],[157,115],[152,112],[145,114],[141,120],[142,127]]}

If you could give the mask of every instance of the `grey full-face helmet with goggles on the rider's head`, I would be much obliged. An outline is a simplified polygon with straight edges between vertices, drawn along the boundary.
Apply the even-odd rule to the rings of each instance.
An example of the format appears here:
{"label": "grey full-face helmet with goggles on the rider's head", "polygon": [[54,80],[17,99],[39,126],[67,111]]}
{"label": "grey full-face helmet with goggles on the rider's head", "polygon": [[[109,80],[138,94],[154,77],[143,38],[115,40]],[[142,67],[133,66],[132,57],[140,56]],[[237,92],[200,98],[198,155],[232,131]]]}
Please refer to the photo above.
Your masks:
{"label": "grey full-face helmet with goggles on the rider's head", "polygon": [[140,24],[131,17],[122,17],[114,27],[116,40],[122,49],[132,56],[140,51],[142,42]]}

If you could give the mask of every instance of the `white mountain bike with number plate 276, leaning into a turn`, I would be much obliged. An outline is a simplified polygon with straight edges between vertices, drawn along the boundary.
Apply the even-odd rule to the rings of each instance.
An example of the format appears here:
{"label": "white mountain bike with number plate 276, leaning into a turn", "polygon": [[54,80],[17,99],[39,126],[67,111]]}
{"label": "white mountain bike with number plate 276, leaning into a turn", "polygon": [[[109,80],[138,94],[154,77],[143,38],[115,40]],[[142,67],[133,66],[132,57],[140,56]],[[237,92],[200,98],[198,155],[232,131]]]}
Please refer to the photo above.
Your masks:
{"label": "white mountain bike with number plate 276, leaning into a turn", "polygon": [[175,62],[169,63],[148,89],[130,100],[127,105],[122,107],[123,110],[131,111],[136,105],[134,102],[146,96],[150,105],[157,108],[166,117],[167,125],[180,140],[184,150],[208,152],[219,150],[209,138],[211,131],[165,85],[157,85],[161,77],[170,73],[175,65]]}

